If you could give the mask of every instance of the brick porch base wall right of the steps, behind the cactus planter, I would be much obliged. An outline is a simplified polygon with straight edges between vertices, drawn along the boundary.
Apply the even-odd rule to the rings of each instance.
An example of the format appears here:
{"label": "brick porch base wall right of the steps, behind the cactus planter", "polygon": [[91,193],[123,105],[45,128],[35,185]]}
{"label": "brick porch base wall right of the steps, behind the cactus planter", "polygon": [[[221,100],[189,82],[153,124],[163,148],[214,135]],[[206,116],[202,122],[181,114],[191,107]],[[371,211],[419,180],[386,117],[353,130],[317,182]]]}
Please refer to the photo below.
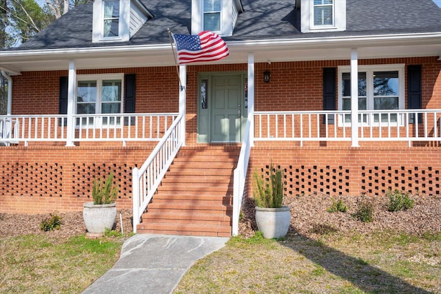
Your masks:
{"label": "brick porch base wall right of the steps, behind the cactus planter", "polygon": [[441,195],[440,147],[255,147],[248,180],[271,161],[283,169],[291,196],[314,192],[374,196],[389,189]]}

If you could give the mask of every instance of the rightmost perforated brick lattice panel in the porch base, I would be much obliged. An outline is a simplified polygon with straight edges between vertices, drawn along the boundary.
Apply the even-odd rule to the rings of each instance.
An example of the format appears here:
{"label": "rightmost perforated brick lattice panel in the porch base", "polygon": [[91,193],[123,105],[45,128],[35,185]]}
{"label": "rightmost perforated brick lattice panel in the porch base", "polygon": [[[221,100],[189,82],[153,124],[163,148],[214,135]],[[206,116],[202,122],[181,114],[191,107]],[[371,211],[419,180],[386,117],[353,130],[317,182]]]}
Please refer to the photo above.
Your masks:
{"label": "rightmost perforated brick lattice panel in the porch base", "polygon": [[432,167],[362,167],[361,189],[386,193],[389,189],[441,195],[441,172]]}

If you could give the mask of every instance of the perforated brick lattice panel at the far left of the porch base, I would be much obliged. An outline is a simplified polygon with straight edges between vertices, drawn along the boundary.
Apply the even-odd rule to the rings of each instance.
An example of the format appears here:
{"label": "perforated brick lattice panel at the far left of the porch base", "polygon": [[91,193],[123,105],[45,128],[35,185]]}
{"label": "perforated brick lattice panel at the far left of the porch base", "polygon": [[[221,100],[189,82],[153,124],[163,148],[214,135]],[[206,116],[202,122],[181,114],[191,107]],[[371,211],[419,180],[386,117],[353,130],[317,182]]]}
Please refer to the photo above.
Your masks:
{"label": "perforated brick lattice panel at the far left of the porch base", "polygon": [[2,196],[62,196],[63,167],[57,163],[7,162],[0,175]]}

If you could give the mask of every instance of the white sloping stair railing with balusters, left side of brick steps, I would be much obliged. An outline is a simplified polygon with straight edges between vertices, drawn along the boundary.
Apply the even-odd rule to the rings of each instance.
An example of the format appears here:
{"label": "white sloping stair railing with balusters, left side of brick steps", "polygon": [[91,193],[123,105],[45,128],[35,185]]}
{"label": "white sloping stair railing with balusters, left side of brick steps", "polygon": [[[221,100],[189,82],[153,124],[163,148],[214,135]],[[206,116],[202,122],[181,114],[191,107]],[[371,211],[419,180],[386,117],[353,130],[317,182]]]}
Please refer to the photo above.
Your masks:
{"label": "white sloping stair railing with balusters, left side of brick steps", "polygon": [[136,233],[136,226],[141,220],[143,211],[147,209],[153,194],[182,146],[185,134],[181,134],[181,123],[183,123],[182,114],[174,120],[143,166],[139,169],[135,167],[132,171],[134,233]]}

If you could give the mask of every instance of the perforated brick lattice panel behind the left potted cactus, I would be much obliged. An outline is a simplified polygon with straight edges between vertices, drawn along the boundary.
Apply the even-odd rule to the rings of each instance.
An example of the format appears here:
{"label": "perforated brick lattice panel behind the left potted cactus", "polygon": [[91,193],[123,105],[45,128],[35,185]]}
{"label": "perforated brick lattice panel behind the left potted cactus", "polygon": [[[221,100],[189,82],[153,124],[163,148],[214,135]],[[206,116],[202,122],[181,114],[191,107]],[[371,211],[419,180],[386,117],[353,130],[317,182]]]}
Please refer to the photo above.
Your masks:
{"label": "perforated brick lattice panel behind the left potted cactus", "polygon": [[92,201],[92,186],[95,177],[105,178],[110,172],[119,183],[119,198],[131,198],[132,193],[132,167],[123,165],[103,164],[73,164],[72,188],[77,198],[90,198]]}

